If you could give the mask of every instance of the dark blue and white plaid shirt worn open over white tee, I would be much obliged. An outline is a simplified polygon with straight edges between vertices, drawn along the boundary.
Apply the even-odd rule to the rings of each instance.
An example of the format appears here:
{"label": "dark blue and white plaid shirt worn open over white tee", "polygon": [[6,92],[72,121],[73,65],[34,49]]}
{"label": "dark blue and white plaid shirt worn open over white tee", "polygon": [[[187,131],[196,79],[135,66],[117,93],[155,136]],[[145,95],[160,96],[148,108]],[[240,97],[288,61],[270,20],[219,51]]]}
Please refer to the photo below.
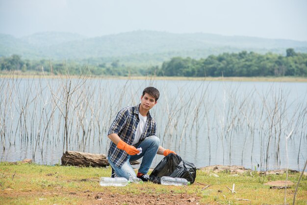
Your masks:
{"label": "dark blue and white plaid shirt worn open over white tee", "polygon": [[[116,133],[124,142],[126,142],[128,145],[132,145],[137,125],[140,122],[138,116],[139,107],[140,104],[136,106],[128,106],[119,111],[109,129],[108,135]],[[153,135],[157,135],[156,123],[151,114],[148,112],[144,133],[142,134],[140,141]],[[108,156],[110,156],[112,162],[114,162],[119,168],[121,168],[128,159],[128,154],[126,151],[118,149],[112,141],[110,143]]]}

